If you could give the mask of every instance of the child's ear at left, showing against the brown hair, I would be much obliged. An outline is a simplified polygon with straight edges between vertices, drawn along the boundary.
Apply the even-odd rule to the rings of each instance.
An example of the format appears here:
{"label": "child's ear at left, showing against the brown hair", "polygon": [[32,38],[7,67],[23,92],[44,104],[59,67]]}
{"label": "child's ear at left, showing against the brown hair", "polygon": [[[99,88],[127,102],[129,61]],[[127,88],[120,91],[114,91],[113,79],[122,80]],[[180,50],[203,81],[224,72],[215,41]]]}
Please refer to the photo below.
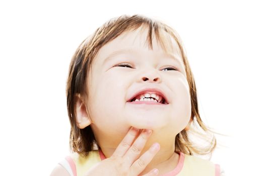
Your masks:
{"label": "child's ear at left, showing against the brown hair", "polygon": [[80,94],[75,96],[76,99],[76,123],[80,129],[84,129],[89,126],[92,122],[88,117],[87,109],[82,101]]}

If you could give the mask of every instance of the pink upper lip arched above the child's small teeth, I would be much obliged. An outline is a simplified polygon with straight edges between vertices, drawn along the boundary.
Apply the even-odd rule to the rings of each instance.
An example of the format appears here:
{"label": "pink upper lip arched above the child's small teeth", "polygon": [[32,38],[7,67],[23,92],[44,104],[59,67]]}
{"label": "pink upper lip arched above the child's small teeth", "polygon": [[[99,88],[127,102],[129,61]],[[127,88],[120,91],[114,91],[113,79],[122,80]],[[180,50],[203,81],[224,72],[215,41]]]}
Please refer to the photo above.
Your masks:
{"label": "pink upper lip arched above the child's small teeth", "polygon": [[143,94],[156,94],[158,96],[161,96],[163,101],[162,104],[169,104],[167,97],[165,96],[165,94],[157,88],[144,88],[139,90],[138,92],[134,93],[132,96],[130,96],[130,98],[127,100],[127,102],[132,102],[135,101],[137,97],[139,97],[140,95]]}

